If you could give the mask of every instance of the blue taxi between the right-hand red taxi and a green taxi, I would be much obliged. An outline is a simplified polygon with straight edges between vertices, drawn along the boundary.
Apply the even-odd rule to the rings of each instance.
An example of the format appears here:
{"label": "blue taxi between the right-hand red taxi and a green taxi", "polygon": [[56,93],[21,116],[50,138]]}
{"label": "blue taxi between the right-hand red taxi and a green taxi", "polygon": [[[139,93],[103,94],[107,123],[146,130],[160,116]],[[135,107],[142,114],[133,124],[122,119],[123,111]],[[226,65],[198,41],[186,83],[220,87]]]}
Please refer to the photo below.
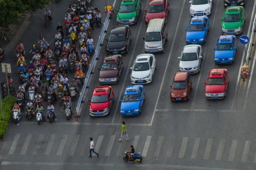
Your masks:
{"label": "blue taxi between the right-hand red taxi and a green taxi", "polygon": [[236,55],[236,36],[221,35],[213,50],[215,51],[214,62],[216,64],[234,63]]}

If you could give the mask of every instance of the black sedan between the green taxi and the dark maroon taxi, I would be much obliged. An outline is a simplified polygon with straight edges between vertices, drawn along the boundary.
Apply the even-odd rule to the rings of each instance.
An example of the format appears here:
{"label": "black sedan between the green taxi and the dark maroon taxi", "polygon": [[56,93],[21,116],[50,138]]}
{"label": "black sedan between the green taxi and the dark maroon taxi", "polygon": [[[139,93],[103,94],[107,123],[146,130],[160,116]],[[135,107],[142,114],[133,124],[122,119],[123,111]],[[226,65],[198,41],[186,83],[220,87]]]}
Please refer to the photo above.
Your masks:
{"label": "black sedan between the green taxi and the dark maroon taxi", "polygon": [[106,41],[106,53],[108,55],[128,53],[131,42],[130,27],[128,25],[113,27]]}

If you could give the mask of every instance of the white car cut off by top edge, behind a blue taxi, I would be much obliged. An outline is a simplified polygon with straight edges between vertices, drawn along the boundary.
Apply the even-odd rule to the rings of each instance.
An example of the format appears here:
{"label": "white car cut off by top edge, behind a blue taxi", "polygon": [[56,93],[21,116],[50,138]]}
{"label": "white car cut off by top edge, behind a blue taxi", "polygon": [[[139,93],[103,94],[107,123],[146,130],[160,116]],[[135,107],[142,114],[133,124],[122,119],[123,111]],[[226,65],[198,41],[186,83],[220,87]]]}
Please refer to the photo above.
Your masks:
{"label": "white car cut off by top edge, behind a blue taxi", "polygon": [[191,16],[208,16],[212,11],[212,0],[191,0]]}

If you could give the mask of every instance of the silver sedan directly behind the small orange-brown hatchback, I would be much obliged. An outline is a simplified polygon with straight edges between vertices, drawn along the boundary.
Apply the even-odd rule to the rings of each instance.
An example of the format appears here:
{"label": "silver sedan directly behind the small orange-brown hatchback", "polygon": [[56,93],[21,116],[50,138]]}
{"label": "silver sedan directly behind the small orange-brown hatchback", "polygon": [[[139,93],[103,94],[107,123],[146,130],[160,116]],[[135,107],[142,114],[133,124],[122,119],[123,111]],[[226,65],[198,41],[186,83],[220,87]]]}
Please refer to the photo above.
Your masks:
{"label": "silver sedan directly behind the small orange-brown hatchback", "polygon": [[202,63],[202,46],[201,45],[186,45],[183,47],[179,68],[181,71],[185,71],[189,74],[200,72],[200,66]]}

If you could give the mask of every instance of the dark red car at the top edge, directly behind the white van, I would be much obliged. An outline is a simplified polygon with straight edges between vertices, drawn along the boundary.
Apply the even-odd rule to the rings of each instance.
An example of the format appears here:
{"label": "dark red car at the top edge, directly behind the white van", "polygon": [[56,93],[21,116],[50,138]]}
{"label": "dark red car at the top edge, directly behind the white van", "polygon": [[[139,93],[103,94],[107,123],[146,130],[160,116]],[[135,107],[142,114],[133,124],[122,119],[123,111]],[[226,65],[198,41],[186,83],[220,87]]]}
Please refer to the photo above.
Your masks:
{"label": "dark red car at the top edge, directly behind the white van", "polygon": [[149,20],[152,19],[165,19],[167,21],[167,16],[170,12],[169,2],[168,0],[149,0],[149,4],[147,5],[147,9],[144,10],[145,15],[145,23],[149,24]]}

